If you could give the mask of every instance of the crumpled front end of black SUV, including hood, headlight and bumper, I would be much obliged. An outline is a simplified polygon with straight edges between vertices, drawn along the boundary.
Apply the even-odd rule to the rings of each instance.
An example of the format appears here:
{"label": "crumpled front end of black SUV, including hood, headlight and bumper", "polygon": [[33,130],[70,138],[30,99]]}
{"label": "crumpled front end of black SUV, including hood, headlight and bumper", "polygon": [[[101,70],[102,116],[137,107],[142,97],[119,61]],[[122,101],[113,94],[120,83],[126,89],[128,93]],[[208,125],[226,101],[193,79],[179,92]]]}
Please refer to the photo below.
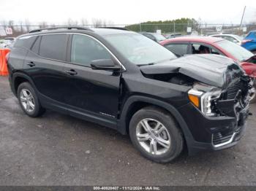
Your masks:
{"label": "crumpled front end of black SUV, including hood, headlight and bumper", "polygon": [[[191,87],[181,113],[192,133],[189,153],[232,147],[241,138],[249,113],[252,78],[229,58],[200,55],[147,66],[147,77]],[[158,69],[154,69],[158,67]]]}

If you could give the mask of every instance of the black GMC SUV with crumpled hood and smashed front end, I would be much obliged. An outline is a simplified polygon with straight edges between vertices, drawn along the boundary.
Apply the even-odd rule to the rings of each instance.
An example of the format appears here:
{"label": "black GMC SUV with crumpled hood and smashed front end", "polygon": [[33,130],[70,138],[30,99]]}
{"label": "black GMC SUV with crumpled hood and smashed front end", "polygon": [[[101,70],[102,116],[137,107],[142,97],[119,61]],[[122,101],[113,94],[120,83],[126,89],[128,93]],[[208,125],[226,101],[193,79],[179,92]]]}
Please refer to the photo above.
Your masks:
{"label": "black GMC SUV with crumpled hood and smashed front end", "polygon": [[166,163],[240,139],[251,79],[221,55],[176,56],[141,34],[113,28],[48,28],[19,36],[7,58],[23,111],[45,109],[122,134]]}

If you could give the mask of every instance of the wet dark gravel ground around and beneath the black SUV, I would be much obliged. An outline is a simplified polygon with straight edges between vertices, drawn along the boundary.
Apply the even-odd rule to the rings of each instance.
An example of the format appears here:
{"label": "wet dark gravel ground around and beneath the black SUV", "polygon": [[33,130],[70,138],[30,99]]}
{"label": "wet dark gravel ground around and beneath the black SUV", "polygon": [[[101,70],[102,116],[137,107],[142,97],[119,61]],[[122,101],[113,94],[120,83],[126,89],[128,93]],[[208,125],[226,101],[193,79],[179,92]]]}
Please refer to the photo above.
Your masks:
{"label": "wet dark gravel ground around and beneath the black SUV", "polygon": [[0,77],[0,185],[256,185],[255,124],[249,117],[236,147],[163,165],[115,130],[52,111],[26,116]]}

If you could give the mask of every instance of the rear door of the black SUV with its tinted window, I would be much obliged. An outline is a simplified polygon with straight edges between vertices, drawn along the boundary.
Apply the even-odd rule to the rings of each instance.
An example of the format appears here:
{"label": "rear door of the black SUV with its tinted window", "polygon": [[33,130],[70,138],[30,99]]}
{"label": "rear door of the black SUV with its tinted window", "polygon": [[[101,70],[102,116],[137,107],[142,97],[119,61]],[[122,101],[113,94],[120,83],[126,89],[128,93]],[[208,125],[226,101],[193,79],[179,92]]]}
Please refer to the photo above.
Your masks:
{"label": "rear door of the black SUV with its tinted window", "polygon": [[33,79],[39,96],[47,104],[67,103],[64,62],[67,59],[67,34],[37,36],[24,61],[24,69]]}

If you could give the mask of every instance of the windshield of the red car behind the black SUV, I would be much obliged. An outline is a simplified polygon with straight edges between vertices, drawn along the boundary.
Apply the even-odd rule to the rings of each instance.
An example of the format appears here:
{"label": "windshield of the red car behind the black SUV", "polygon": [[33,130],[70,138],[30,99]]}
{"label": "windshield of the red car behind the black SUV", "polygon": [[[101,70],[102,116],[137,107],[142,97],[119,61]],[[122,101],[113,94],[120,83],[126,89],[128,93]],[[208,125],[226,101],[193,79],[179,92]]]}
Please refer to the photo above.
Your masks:
{"label": "windshield of the red car behind the black SUV", "polygon": [[246,61],[253,56],[252,52],[246,50],[244,47],[240,47],[238,44],[229,42],[227,40],[217,42],[219,47],[233,55],[238,61]]}

